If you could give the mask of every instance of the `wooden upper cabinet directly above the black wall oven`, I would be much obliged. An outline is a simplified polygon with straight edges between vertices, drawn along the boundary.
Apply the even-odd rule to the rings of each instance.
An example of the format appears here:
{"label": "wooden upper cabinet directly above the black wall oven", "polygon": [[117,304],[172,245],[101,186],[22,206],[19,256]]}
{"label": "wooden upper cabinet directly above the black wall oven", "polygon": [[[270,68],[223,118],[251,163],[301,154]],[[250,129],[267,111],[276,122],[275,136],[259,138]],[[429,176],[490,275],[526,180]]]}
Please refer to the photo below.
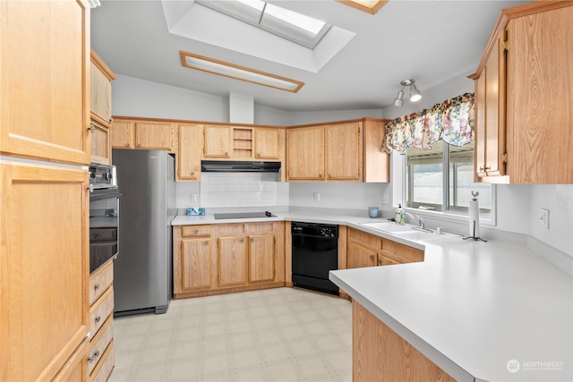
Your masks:
{"label": "wooden upper cabinet directly above the black wall oven", "polygon": [[111,164],[111,81],[115,74],[91,50],[90,55],[91,162]]}

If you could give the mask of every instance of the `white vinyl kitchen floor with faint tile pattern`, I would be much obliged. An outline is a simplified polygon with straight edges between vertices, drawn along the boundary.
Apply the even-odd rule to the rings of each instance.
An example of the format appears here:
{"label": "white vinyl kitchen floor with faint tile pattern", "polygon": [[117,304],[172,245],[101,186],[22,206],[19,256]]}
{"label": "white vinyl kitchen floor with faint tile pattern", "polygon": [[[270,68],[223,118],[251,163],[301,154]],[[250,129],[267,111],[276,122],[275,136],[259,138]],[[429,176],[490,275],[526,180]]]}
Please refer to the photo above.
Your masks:
{"label": "white vinyl kitchen floor with faint tile pattern", "polygon": [[277,288],[114,319],[116,381],[350,381],[349,301]]}

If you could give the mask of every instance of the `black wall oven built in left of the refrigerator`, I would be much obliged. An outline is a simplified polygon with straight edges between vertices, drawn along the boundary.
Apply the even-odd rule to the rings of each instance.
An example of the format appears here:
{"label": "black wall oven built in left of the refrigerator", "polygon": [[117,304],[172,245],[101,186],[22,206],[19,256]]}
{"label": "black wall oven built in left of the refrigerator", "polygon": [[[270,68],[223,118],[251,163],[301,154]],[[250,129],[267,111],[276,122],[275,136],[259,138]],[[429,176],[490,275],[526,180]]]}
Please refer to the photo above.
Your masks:
{"label": "black wall oven built in left of the refrigerator", "polygon": [[119,198],[115,166],[90,165],[90,274],[117,256]]}

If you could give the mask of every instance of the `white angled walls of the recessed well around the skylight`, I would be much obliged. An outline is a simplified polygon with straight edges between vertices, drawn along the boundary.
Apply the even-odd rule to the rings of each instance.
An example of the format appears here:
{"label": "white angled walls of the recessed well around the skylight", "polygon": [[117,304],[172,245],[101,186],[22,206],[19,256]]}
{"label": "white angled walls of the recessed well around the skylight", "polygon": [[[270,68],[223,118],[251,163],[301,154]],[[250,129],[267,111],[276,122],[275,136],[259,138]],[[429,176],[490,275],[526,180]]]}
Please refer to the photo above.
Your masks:
{"label": "white angled walls of the recessed well around the skylight", "polygon": [[354,32],[333,25],[312,50],[195,4],[193,0],[164,0],[162,5],[167,29],[172,34],[307,72],[319,72],[355,37]]}

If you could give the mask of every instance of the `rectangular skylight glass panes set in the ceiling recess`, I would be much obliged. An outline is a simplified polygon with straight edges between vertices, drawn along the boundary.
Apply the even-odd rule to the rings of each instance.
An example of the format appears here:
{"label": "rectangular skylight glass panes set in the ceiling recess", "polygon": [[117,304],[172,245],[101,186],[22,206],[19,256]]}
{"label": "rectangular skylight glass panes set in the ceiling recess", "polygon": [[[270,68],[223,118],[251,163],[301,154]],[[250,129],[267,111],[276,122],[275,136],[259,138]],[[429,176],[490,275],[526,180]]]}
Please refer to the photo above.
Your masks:
{"label": "rectangular skylight glass panes set in the ceiling recess", "polygon": [[196,3],[310,49],[321,42],[331,27],[261,0],[196,0]]}

